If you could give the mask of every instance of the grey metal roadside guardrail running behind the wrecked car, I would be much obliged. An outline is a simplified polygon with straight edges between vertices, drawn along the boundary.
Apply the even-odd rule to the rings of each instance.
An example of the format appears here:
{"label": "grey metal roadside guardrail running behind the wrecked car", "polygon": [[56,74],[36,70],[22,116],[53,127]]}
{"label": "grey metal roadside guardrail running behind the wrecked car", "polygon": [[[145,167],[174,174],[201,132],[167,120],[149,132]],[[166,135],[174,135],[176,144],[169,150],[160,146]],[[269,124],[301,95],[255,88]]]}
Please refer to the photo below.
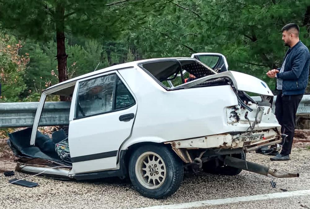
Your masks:
{"label": "grey metal roadside guardrail running behind the wrecked car", "polygon": [[[260,101],[260,97],[252,97]],[[272,111],[275,110],[276,96],[273,99]],[[67,125],[69,122],[71,102],[46,102],[39,126]],[[31,127],[39,102],[0,103],[0,128]],[[310,95],[304,95],[299,103],[297,114],[310,115]]]}

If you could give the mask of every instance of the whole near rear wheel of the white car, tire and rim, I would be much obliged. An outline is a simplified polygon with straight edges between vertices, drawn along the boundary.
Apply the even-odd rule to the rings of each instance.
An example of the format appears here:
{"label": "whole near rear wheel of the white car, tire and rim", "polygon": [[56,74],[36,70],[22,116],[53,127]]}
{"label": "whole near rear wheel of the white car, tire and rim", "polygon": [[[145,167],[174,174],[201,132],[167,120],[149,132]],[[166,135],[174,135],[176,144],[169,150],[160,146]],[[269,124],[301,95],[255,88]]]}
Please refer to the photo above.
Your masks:
{"label": "whole near rear wheel of the white car, tire and rim", "polygon": [[129,159],[129,177],[134,188],[149,198],[173,194],[183,179],[183,164],[166,146],[153,144],[137,148]]}

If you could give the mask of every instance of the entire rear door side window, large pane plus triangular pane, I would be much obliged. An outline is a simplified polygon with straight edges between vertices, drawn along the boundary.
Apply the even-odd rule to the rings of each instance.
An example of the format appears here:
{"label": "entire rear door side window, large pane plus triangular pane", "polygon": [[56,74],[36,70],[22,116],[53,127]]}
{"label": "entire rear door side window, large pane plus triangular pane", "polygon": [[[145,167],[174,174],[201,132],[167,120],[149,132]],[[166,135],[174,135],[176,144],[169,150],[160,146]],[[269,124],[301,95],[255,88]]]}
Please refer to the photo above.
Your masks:
{"label": "entire rear door side window, large pane plus triangular pane", "polygon": [[133,95],[116,74],[79,83],[75,119],[127,108],[135,104]]}

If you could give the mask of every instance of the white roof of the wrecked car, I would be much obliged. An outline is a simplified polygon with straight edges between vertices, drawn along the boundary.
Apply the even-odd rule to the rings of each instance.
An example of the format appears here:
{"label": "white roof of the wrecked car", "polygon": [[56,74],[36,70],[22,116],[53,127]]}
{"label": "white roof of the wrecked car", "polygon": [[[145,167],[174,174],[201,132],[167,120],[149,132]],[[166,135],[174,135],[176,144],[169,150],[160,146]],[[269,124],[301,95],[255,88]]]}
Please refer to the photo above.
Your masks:
{"label": "white roof of the wrecked car", "polygon": [[167,59],[196,60],[195,58],[191,58],[191,57],[166,57],[166,58],[153,58],[153,59],[145,59],[145,60],[126,62],[126,63],[123,63],[123,64],[118,64],[118,65],[106,67],[106,68],[103,68],[103,69],[100,69],[100,70],[96,70],[96,71],[93,71],[93,72],[90,72],[90,73],[87,73],[87,74],[84,74],[84,75],[80,75],[80,76],[74,77],[74,78],[69,79],[69,80],[65,80],[65,81],[63,81],[61,83],[58,83],[58,84],[55,84],[55,85],[52,85],[52,86],[48,87],[44,91],[47,91],[47,90],[50,90],[50,89],[53,89],[53,88],[56,88],[56,87],[60,87],[62,85],[65,85],[65,84],[68,84],[68,83],[71,83],[71,82],[76,82],[77,80],[80,80],[80,79],[83,79],[83,78],[87,78],[87,77],[90,77],[90,76],[93,76],[93,75],[109,72],[109,71],[112,71],[112,70],[120,70],[120,69],[125,69],[125,68],[133,68],[133,67],[136,67],[140,63],[149,62],[149,61],[167,60]]}

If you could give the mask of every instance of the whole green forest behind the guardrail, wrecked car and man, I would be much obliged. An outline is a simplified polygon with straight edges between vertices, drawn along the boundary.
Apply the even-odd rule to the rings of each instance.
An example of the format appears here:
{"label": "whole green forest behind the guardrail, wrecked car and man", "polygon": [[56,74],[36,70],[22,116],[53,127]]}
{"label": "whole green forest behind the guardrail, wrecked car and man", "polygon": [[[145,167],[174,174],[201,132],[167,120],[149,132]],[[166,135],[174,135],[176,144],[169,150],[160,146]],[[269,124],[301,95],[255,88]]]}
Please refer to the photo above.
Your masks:
{"label": "whole green forest behind the guardrail, wrecked car and man", "polygon": [[281,66],[290,22],[309,48],[310,0],[0,0],[0,102],[38,101],[114,63],[195,52],[222,53],[229,70],[274,89],[266,72]]}

